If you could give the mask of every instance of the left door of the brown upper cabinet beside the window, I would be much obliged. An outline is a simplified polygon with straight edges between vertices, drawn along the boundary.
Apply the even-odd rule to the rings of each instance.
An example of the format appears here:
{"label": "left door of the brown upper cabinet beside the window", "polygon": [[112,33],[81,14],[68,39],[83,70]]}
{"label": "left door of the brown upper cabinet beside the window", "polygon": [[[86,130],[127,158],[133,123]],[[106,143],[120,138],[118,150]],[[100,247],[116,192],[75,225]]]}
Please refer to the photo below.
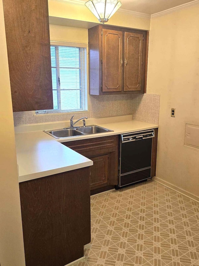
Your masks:
{"label": "left door of the brown upper cabinet beside the window", "polygon": [[123,32],[103,29],[102,91],[122,90]]}

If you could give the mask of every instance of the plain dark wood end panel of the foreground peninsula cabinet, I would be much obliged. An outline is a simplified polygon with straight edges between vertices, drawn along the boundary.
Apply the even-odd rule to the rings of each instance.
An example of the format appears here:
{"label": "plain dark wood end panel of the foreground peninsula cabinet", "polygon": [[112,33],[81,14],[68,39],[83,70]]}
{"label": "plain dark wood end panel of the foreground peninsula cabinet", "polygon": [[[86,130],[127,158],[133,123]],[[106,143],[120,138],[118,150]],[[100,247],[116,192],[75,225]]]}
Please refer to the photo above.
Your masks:
{"label": "plain dark wood end panel of the foreground peninsula cabinet", "polygon": [[21,182],[26,266],[64,266],[90,243],[90,167]]}

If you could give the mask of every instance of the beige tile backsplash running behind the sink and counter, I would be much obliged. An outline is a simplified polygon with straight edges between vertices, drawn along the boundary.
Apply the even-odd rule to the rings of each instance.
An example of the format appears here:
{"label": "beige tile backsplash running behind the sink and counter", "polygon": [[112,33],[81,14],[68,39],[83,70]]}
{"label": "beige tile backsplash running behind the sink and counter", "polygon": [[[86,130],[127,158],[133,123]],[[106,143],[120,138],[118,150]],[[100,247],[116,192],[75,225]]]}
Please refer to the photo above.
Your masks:
{"label": "beige tile backsplash running behind the sink and counter", "polygon": [[[101,118],[133,114],[133,119],[158,124],[160,95],[90,95],[88,99],[89,111],[76,113],[74,120],[83,116]],[[14,112],[14,124],[26,125],[55,121],[68,121],[72,114],[34,116],[34,111]]]}

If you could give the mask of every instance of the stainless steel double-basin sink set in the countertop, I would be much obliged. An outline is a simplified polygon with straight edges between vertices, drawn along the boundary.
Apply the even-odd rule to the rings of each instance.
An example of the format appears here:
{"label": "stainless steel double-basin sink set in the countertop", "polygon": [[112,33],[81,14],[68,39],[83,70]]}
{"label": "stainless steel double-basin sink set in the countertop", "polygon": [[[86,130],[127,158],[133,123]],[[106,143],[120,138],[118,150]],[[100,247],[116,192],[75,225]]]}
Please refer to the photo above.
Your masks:
{"label": "stainless steel double-basin sink set in the countertop", "polygon": [[54,138],[69,138],[82,135],[91,135],[105,132],[113,132],[113,130],[102,128],[97,125],[90,125],[85,127],[62,128],[57,130],[44,130],[45,133]]}

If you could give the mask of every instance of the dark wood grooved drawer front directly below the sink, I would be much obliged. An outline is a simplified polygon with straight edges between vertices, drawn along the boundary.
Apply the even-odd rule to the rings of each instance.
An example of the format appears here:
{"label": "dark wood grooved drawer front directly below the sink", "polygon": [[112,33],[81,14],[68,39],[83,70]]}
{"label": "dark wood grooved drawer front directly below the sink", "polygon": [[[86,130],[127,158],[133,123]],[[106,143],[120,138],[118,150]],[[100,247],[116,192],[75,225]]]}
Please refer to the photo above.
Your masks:
{"label": "dark wood grooved drawer front directly below the sink", "polygon": [[76,140],[70,142],[63,142],[62,144],[71,148],[76,152],[95,151],[104,148],[113,148],[118,146],[117,136],[89,138],[85,140]]}

